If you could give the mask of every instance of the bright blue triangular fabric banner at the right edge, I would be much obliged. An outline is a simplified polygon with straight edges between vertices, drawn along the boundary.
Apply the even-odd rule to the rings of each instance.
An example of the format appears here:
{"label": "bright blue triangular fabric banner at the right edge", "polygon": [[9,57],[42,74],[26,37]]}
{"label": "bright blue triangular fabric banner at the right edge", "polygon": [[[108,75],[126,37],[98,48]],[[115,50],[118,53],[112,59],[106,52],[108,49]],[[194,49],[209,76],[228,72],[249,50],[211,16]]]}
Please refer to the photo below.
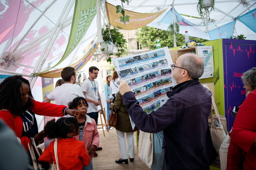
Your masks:
{"label": "bright blue triangular fabric banner at the right edge", "polygon": [[256,9],[238,17],[238,20],[256,33]]}

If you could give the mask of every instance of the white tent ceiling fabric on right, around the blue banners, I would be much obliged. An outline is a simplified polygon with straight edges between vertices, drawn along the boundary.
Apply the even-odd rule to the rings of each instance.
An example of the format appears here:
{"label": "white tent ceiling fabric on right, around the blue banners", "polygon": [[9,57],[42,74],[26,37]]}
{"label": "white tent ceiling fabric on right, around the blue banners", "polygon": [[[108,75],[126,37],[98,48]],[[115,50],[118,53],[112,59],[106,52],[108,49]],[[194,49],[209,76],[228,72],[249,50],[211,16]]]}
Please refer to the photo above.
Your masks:
{"label": "white tent ceiling fabric on right, around the blue banners", "polygon": [[[115,0],[108,0],[107,2],[113,5],[121,5],[119,1]],[[147,26],[167,30],[167,27],[170,25],[170,22],[161,22],[161,20],[166,16],[166,14],[170,14],[169,10],[171,9],[171,5],[173,3],[174,9],[179,14],[185,14],[194,17],[200,17],[198,15],[196,6],[198,0],[144,0],[141,3],[138,1],[132,0],[129,5],[124,5],[124,9],[131,10],[134,12],[140,13],[151,13],[151,12],[158,12],[162,11],[163,9],[167,10],[159,16],[157,19],[149,23]],[[256,0],[215,0],[215,11],[210,13],[211,21],[209,23],[209,30],[214,30],[219,28],[225,24],[233,22],[235,18],[242,16],[243,14],[253,10],[256,8]],[[187,21],[195,24],[200,25],[201,19],[191,18],[187,16],[182,16]],[[256,20],[252,21],[256,25]],[[211,40],[208,33],[205,32],[204,26],[180,26],[181,34],[184,34],[185,31],[189,32],[190,36],[199,37],[207,40]],[[236,21],[235,31],[237,35],[243,34],[247,39],[256,40],[256,33],[253,32],[251,29],[246,27],[240,21]],[[235,35],[235,34],[234,34]],[[218,37],[222,38],[222,37]],[[225,37],[224,37],[225,38]],[[229,38],[229,37],[227,37]]]}

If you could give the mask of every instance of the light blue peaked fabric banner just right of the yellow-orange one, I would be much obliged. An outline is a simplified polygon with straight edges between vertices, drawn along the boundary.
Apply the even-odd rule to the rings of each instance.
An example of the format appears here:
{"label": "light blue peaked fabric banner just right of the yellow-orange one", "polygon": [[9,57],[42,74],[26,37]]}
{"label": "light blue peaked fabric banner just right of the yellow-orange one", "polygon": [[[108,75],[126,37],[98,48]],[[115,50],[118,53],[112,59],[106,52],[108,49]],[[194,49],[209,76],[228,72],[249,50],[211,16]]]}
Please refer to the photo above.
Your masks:
{"label": "light blue peaked fabric banner just right of the yellow-orange one", "polygon": [[174,9],[175,16],[173,16],[172,9],[174,9],[174,8],[171,8],[170,11],[168,11],[165,14],[165,16],[163,17],[163,19],[160,22],[163,22],[166,24],[177,22],[179,25],[182,25],[182,26],[197,26],[197,25],[187,21],[185,18],[183,18],[175,9]]}

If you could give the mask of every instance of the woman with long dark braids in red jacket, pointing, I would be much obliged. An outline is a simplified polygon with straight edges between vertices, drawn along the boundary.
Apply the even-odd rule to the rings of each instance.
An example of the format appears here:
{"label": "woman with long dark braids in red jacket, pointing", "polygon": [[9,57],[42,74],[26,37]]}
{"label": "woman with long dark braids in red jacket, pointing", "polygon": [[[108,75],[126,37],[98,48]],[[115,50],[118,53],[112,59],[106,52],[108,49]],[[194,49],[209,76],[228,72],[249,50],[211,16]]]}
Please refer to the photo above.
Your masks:
{"label": "woman with long dark braids in red jacket, pointing", "polygon": [[14,130],[26,151],[29,150],[28,143],[32,145],[34,140],[38,144],[44,137],[43,130],[38,133],[35,114],[52,117],[69,114],[76,117],[76,111],[63,105],[35,101],[29,81],[21,75],[7,77],[0,84],[0,119]]}

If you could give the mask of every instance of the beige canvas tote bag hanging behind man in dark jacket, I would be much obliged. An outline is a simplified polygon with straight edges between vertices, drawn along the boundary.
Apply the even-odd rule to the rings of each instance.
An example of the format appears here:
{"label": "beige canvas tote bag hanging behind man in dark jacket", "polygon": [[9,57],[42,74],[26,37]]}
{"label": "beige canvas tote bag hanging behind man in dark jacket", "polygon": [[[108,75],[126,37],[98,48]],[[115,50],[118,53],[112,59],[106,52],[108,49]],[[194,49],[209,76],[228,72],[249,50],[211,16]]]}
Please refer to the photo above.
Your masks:
{"label": "beige canvas tote bag hanging behind man in dark jacket", "polygon": [[[225,131],[227,131],[227,129],[224,130],[224,124],[226,125],[226,118],[219,115],[219,112],[218,112],[218,109],[217,109],[217,106],[215,104],[215,101],[214,101],[213,97],[212,97],[212,105],[213,105],[213,108],[214,108],[215,115],[213,115],[213,112],[211,110],[210,118],[208,119],[208,125],[209,125],[210,132],[211,132],[213,147],[217,151],[218,156],[212,162],[211,166],[220,168],[219,149],[220,149],[220,146],[221,146],[223,140],[227,136],[227,134],[225,132]],[[220,118],[222,119],[222,122],[221,122]],[[227,128],[227,126],[225,126],[225,128]]]}

